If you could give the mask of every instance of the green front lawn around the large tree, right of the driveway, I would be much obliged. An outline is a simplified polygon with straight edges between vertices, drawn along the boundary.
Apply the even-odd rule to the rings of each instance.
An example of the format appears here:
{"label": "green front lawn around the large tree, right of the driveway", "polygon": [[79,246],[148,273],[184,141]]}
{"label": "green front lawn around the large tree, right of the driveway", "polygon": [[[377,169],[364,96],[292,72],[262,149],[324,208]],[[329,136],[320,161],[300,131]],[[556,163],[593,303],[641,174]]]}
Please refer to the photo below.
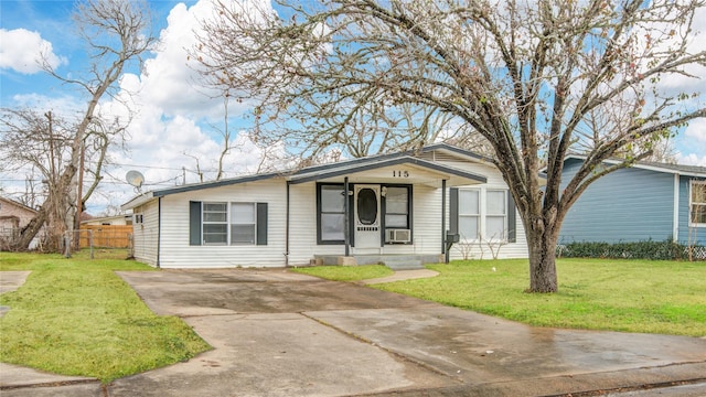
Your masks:
{"label": "green front lawn around the large tree, right of the driveway", "polygon": [[537,326],[706,336],[704,262],[559,259],[553,294],[524,292],[526,259],[428,268],[440,275],[371,287]]}

